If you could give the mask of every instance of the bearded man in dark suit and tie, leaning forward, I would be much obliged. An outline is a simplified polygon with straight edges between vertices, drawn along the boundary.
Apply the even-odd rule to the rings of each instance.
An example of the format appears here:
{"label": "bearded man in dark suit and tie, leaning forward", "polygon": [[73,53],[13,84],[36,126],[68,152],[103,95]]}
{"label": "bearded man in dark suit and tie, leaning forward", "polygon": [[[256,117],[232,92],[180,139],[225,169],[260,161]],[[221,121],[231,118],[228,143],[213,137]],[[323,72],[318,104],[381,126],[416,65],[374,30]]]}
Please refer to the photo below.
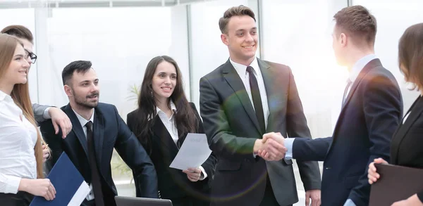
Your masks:
{"label": "bearded man in dark suit and tie, leaning forward", "polygon": [[152,160],[119,116],[114,105],[99,103],[99,79],[90,61],[78,60],[62,72],[69,104],[61,108],[71,119],[73,128],[66,139],[55,134],[51,122],[43,122],[41,131],[52,155],[54,166],[65,152],[90,184],[91,192],[82,205],[116,206],[116,186],[111,179],[111,156],[114,148],[134,172],[140,196],[157,198],[157,175]]}

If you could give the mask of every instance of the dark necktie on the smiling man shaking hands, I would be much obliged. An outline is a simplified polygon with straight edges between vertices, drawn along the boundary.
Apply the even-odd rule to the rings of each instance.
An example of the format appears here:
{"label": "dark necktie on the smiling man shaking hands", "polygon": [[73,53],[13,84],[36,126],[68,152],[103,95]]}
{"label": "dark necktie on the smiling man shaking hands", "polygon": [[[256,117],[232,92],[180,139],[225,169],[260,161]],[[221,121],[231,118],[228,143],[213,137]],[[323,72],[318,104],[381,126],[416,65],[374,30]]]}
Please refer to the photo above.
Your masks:
{"label": "dark necktie on the smiling man shaking hands", "polygon": [[260,129],[262,133],[266,132],[266,126],[264,124],[264,112],[262,105],[262,96],[260,96],[259,84],[257,83],[257,78],[254,75],[254,70],[252,67],[247,66],[247,72],[250,73],[250,89],[252,96],[252,103],[254,104],[254,109],[256,112],[257,120],[259,120]]}

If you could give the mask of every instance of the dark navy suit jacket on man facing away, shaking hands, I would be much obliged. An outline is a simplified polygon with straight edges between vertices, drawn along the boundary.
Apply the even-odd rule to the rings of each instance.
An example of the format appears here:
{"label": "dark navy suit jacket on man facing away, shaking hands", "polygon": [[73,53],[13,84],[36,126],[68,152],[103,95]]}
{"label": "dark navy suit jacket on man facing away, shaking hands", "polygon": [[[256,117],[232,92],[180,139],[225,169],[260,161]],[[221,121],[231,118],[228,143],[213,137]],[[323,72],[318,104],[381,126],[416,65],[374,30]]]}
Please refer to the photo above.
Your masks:
{"label": "dark navy suit jacket on man facing away, shaking hands", "polygon": [[347,199],[369,205],[368,166],[375,158],[389,159],[402,112],[395,77],[374,59],[351,86],[332,137],[295,139],[293,158],[324,161],[321,205],[343,205]]}

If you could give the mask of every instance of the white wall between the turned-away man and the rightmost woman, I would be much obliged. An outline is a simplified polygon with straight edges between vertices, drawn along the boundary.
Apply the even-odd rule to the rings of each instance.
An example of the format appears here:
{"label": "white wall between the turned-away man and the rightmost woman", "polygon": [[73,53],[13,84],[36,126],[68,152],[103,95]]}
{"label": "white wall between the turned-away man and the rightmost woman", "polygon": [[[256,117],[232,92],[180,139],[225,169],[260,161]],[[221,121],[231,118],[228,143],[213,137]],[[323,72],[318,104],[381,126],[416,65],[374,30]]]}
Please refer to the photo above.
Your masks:
{"label": "white wall between the turned-away man and the rightmost woman", "polygon": [[365,6],[376,18],[378,31],[375,52],[400,84],[405,114],[419,93],[406,89],[404,77],[398,67],[398,40],[407,27],[423,22],[423,1],[354,0],[353,4]]}

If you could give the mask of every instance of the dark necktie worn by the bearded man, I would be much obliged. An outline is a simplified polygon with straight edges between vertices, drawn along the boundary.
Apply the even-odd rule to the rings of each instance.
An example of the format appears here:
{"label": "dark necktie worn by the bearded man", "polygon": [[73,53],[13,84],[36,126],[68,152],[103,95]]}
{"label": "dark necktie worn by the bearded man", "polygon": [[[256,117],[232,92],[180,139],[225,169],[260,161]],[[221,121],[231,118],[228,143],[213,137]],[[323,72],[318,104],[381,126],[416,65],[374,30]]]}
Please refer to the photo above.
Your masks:
{"label": "dark necktie worn by the bearded man", "polygon": [[87,127],[88,156],[90,159],[91,184],[92,191],[94,192],[94,202],[96,206],[104,206],[102,184],[100,183],[99,169],[97,168],[97,160],[95,158],[92,122],[87,122],[87,124],[85,124],[85,127]]}

